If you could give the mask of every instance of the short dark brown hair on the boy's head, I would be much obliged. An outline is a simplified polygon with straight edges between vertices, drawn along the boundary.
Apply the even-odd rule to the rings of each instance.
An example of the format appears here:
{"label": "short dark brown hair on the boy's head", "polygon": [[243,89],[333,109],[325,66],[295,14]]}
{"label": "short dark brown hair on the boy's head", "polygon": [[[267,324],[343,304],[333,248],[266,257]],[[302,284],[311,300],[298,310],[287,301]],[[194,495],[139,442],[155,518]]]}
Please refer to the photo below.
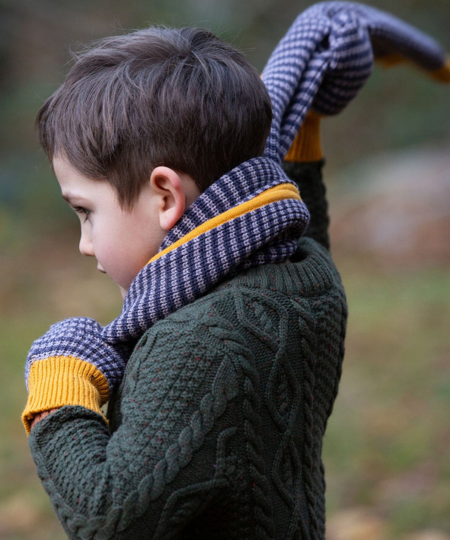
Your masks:
{"label": "short dark brown hair on the boy's head", "polygon": [[158,165],[201,191],[263,153],[267,90],[244,55],[208,30],[148,28],[80,53],[38,112],[50,159],[106,179],[131,207]]}

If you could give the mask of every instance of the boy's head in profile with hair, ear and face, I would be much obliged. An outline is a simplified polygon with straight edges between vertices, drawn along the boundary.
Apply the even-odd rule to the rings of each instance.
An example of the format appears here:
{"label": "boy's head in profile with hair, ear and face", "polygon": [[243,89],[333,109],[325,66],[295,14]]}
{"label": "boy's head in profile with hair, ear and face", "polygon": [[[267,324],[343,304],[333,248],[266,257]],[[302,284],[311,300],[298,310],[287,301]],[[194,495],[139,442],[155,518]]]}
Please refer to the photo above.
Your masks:
{"label": "boy's head in profile with hair, ear and face", "polygon": [[80,252],[124,295],[199,193],[261,155],[271,118],[264,84],[231,45],[149,28],[86,50],[37,126],[80,218]]}

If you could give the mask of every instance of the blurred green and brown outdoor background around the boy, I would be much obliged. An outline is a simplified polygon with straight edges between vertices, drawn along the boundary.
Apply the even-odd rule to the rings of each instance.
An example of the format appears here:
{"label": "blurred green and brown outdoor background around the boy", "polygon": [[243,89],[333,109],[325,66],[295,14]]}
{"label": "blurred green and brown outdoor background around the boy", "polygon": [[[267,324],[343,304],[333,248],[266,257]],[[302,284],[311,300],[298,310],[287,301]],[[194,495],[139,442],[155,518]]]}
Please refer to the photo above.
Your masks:
{"label": "blurred green and brown outdoor background around the boy", "polygon": [[[70,49],[150,23],[206,26],[261,70],[292,0],[0,1],[0,538],[65,535],[35,474],[20,414],[33,339],[66,316],[102,323],[120,295],[77,252],[77,218],[34,118]],[[374,0],[450,49],[448,0]],[[450,539],[450,86],[376,68],[323,122],[333,254],[350,307],[325,440],[329,540]]]}

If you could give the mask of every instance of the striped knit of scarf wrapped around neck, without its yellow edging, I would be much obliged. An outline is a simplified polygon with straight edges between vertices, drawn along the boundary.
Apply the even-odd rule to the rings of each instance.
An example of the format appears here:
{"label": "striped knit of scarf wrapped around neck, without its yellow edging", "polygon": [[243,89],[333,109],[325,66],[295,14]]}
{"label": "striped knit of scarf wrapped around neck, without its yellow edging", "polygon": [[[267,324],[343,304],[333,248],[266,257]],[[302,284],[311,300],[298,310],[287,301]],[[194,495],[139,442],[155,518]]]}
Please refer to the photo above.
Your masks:
{"label": "striped knit of scarf wrapped around neck, without its yellow edging", "polygon": [[[291,181],[273,160],[246,161],[200,195],[167,234],[161,249],[229,208],[286,183]],[[110,343],[137,338],[158,319],[192,302],[225,276],[286,260],[294,253],[308,221],[303,201],[276,201],[227,221],[150,262],[131,284],[122,313],[104,328],[103,338]]]}

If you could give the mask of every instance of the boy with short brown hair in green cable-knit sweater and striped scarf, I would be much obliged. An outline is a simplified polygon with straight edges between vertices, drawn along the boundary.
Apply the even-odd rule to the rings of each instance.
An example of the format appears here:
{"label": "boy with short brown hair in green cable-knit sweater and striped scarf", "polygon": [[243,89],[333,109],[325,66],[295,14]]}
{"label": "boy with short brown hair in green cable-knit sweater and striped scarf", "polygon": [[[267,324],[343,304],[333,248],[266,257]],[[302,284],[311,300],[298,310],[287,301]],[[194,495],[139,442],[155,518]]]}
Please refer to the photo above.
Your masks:
{"label": "boy with short brown hair in green cable-knit sweater and striped scarf", "polygon": [[283,138],[266,80],[272,124],[230,45],[147,29],[86,51],[39,111],[80,251],[124,295],[104,328],[51,327],[26,366],[31,451],[71,538],[324,538],[345,295],[319,117],[288,155],[308,227],[277,164],[304,113]]}

